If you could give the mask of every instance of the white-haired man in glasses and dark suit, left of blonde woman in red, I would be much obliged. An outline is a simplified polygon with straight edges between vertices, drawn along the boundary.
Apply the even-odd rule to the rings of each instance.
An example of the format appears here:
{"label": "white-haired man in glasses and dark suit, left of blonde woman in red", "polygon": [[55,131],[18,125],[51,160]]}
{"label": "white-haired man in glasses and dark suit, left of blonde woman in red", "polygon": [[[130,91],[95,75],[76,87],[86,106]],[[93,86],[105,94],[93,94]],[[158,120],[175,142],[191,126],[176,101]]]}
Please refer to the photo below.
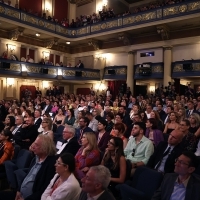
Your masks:
{"label": "white-haired man in glasses and dark suit, left of blonde woman in red", "polygon": [[80,148],[80,145],[75,137],[75,128],[73,126],[66,125],[63,130],[64,143],[57,152],[57,154],[71,153],[74,156]]}

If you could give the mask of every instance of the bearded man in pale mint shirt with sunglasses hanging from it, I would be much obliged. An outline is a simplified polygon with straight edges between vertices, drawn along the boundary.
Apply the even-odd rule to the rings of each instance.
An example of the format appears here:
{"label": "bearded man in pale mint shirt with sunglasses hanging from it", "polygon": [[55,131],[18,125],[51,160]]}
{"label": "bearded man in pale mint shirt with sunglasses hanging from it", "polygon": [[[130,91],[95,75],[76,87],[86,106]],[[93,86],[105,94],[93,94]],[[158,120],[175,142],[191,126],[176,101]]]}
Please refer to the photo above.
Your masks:
{"label": "bearded man in pale mint shirt with sunglasses hanging from it", "polygon": [[139,166],[146,165],[150,156],[154,152],[154,146],[151,140],[144,136],[146,125],[144,122],[135,122],[124,154],[126,159],[132,163],[131,176]]}

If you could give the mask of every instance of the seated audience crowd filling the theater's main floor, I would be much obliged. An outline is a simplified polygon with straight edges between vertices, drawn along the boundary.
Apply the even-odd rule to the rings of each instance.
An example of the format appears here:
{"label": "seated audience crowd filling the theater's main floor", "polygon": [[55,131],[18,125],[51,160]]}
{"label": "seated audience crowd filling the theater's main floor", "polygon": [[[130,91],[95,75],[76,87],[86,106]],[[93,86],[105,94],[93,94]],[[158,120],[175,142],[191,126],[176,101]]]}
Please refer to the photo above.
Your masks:
{"label": "seated audience crowd filling the theater's main floor", "polygon": [[[86,187],[90,169],[100,164],[108,169],[108,188],[118,198],[115,186],[129,176],[134,177],[138,168],[146,166],[158,173],[173,173],[174,163],[184,151],[200,155],[200,117],[196,110],[200,102],[199,88],[195,91],[189,86],[184,95],[163,90],[160,96],[156,93],[137,98],[128,90],[115,98],[110,93],[108,96],[63,94],[58,86],[49,88],[45,94],[39,88],[36,92],[35,99],[29,96],[0,101],[0,161],[9,167],[16,145],[37,155],[29,173],[23,172],[24,181],[18,183],[15,193],[4,191],[0,199],[1,195],[21,195],[24,199],[69,195],[70,199],[72,194],[62,191],[62,184],[77,191],[79,199],[80,186],[83,190]],[[180,109],[185,109],[185,118],[178,115]],[[59,130],[62,140],[57,137]],[[44,147],[39,149],[40,145]],[[66,158],[64,153],[72,157]],[[38,174],[43,173],[41,177],[31,174],[40,163],[38,158],[44,162],[38,168]],[[74,165],[70,167],[69,163]],[[4,170],[1,163],[0,169]],[[29,179],[34,185],[27,184]],[[70,186],[68,179],[74,184]],[[35,184],[40,180],[45,184],[38,190]],[[26,185],[33,190],[26,190]]]}

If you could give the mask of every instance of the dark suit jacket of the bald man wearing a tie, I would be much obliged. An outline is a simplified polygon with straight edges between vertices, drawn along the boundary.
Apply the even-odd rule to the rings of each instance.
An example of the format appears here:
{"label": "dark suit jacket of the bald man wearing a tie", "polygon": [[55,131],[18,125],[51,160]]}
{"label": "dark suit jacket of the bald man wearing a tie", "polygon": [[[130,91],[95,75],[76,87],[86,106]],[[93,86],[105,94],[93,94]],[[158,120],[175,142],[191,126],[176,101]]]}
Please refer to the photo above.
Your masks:
{"label": "dark suit jacket of the bald man wearing a tie", "polygon": [[[158,162],[161,160],[163,153],[165,152],[166,148],[168,146],[167,142],[160,142],[155,149],[153,155],[150,157],[147,167],[150,167],[152,169],[155,168],[155,166],[158,164]],[[173,173],[174,172],[174,163],[175,159],[178,158],[183,152],[183,148],[181,144],[178,144],[174,147],[174,149],[169,154],[166,162],[165,162],[165,173]]]}

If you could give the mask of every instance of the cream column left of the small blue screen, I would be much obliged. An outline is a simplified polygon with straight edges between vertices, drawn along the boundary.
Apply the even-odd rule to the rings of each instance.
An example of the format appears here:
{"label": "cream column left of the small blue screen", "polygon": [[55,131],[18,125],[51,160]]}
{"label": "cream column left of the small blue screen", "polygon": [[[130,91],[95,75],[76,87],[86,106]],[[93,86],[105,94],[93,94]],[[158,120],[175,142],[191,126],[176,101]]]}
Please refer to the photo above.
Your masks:
{"label": "cream column left of the small blue screen", "polygon": [[135,52],[129,51],[128,52],[128,59],[127,59],[127,78],[126,83],[127,87],[130,87],[130,91],[132,94],[134,94],[134,77],[133,77],[133,70],[134,70],[134,64],[135,64]]}

